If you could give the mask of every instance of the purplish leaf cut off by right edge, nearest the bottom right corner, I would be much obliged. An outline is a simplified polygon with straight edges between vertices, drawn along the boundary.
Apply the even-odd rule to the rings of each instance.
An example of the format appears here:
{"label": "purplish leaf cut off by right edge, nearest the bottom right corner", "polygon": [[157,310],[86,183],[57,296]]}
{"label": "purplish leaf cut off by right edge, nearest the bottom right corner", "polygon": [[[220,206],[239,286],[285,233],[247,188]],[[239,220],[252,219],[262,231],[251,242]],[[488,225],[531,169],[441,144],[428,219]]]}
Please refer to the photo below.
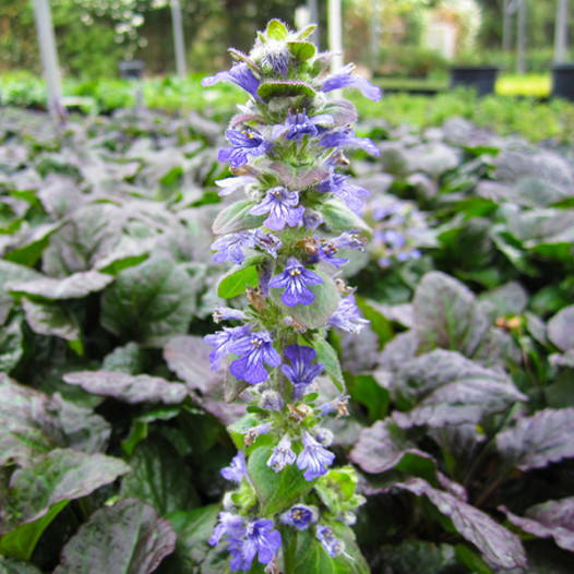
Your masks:
{"label": "purplish leaf cut off by right edge, nearest the bottom right corner", "polygon": [[524,517],[504,506],[500,510],[524,533],[538,538],[552,537],[560,548],[574,552],[574,497],[535,504],[526,510]]}

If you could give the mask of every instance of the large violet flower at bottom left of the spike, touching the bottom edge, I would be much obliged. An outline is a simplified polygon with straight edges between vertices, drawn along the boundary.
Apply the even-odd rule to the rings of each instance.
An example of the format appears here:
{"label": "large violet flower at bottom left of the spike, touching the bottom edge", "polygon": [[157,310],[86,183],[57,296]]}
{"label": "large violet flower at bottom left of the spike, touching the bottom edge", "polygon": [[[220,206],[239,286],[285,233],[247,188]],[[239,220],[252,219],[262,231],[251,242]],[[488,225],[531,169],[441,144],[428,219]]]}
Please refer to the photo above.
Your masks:
{"label": "large violet flower at bottom left of the spike, touching the bottom edge", "polygon": [[230,541],[231,570],[248,572],[255,555],[260,564],[268,564],[273,561],[282,546],[282,535],[273,527],[273,521],[253,521],[246,528],[246,539]]}

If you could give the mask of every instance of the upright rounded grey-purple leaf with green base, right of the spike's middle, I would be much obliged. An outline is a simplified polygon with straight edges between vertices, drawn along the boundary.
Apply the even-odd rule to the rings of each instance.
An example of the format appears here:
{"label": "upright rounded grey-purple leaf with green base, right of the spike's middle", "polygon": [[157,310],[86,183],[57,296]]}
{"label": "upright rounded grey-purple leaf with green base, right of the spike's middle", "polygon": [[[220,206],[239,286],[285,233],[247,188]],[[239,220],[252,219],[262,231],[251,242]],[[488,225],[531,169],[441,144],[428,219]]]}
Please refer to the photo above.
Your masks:
{"label": "upright rounded grey-purple leaf with green base, right of the spike's middle", "polygon": [[474,294],[444,273],[424,275],[412,304],[422,350],[442,347],[473,357],[490,327]]}

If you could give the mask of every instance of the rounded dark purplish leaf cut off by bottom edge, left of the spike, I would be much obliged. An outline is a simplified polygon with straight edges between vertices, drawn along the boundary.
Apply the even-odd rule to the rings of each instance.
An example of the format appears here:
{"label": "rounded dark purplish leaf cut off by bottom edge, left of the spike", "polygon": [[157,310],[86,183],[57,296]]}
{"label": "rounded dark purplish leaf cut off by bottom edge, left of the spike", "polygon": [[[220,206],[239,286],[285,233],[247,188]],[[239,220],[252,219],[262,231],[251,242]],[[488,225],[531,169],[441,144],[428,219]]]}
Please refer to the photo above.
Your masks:
{"label": "rounded dark purplish leaf cut off by bottom edge, left of the spike", "polygon": [[175,548],[169,521],[159,518],[147,504],[122,500],[96,511],[80,527],[63,548],[53,574],[147,574]]}

